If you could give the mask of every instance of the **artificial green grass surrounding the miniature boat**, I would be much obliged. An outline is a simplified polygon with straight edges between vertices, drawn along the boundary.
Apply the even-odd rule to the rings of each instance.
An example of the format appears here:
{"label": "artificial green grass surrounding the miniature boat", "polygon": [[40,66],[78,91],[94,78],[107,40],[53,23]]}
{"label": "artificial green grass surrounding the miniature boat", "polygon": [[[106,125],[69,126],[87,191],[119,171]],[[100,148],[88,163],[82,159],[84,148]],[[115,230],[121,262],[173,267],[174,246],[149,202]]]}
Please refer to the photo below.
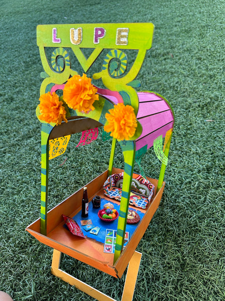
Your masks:
{"label": "artificial green grass surrounding the miniature boat", "polygon": [[[138,79],[170,102],[175,127],[164,194],[137,247],[143,255],[133,300],[225,299],[223,12],[223,1],[209,0],[1,2],[0,290],[15,301],[93,300],[51,275],[52,249],[24,231],[40,203],[36,26],[152,22]],[[71,137],[66,153],[50,161],[49,208],[107,169],[109,141],[75,149],[78,141]],[[116,150],[115,166],[123,168]],[[142,168],[158,177],[159,166],[150,150]],[[66,255],[61,266],[121,299],[124,275],[114,279]]]}

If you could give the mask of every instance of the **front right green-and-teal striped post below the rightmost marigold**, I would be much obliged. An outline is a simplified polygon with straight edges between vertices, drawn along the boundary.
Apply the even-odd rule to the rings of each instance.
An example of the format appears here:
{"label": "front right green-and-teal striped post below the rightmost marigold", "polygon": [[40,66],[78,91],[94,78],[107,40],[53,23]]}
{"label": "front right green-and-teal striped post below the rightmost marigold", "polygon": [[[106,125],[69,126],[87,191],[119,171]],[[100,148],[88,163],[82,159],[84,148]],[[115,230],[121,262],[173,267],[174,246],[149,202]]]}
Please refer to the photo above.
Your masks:
{"label": "front right green-and-teal striped post below the rightmost marigold", "polygon": [[135,144],[134,141],[120,141],[119,142],[123,157],[124,157],[124,175],[122,183],[122,194],[120,200],[119,217],[117,224],[117,235],[115,241],[115,253],[113,263],[118,259],[123,249],[124,236],[126,231],[126,219],[129,206],[130,186],[132,182],[133,164],[135,158]]}

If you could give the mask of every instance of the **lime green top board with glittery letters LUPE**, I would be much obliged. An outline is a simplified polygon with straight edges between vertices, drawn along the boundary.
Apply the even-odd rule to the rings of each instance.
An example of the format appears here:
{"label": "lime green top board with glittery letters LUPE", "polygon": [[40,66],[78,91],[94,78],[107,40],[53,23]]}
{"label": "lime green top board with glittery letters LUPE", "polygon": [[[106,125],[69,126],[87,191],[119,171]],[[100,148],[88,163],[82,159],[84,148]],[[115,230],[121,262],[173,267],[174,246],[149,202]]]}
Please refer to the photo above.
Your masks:
{"label": "lime green top board with glittery letters LUPE", "polygon": [[39,47],[149,49],[153,28],[151,23],[38,25],[36,41]]}

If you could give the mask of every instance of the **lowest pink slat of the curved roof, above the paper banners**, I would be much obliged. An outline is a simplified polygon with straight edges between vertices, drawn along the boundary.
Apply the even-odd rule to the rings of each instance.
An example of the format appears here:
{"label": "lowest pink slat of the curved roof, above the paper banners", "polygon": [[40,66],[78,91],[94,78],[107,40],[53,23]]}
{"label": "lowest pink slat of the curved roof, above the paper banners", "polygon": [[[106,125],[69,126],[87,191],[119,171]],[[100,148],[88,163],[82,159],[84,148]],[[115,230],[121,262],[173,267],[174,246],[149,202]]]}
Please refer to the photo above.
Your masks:
{"label": "lowest pink slat of the curved roof, above the paper banners", "polygon": [[170,122],[163,127],[157,129],[156,131],[144,136],[143,138],[138,138],[136,140],[136,150],[140,149],[144,145],[147,144],[147,149],[150,148],[153,145],[154,139],[157,138],[158,136],[162,135],[162,137],[165,136],[167,130],[173,127],[173,122]]}

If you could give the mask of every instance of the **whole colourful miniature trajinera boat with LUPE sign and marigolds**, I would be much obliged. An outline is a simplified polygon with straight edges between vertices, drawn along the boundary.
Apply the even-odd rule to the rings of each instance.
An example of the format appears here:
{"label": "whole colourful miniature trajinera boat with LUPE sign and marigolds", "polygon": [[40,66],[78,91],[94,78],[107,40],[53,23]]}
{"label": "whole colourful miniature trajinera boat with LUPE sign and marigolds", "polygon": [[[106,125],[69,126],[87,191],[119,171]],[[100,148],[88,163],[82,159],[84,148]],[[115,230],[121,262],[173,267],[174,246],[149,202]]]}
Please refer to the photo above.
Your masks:
{"label": "whole colourful miniature trajinera boat with LUPE sign and marigolds", "polygon": [[[134,255],[136,256],[136,246],[159,205],[165,184],[163,177],[173,130],[173,111],[166,99],[159,94],[135,90],[139,87],[139,81],[135,78],[146,50],[151,47],[152,36],[153,25],[148,23],[40,25],[37,27],[37,45],[44,68],[41,74],[44,79],[40,88],[40,104],[36,110],[37,117],[42,122],[41,209],[40,218],[29,225],[26,230],[40,242],[54,249],[52,259],[54,274],[58,269],[59,254],[63,252],[114,277],[121,277],[129,261]],[[50,60],[46,52],[48,47],[51,49],[53,47]],[[82,53],[82,48],[93,49],[87,59]],[[99,55],[103,49],[107,49],[108,52],[102,58],[101,70],[92,73],[91,76],[95,80],[101,79],[105,86],[102,89],[93,86],[85,72],[98,57],[100,58]],[[127,70],[128,58],[125,54],[127,49],[135,50],[136,53],[136,58],[129,70]],[[70,52],[73,52],[83,68],[82,76],[71,68]],[[59,99],[58,90],[63,91],[63,96]],[[56,139],[60,138],[65,148],[69,135],[77,132],[82,132],[82,137],[86,135],[90,140],[95,139],[97,128],[100,126],[104,126],[104,132],[112,136],[108,170],[85,186],[89,201],[95,195],[99,195],[119,206],[118,219],[113,221],[116,225],[114,254],[103,252],[103,243],[98,242],[97,239],[74,236],[63,226],[62,214],[74,217],[81,210],[82,188],[47,212],[48,160],[59,155],[59,153],[56,154],[57,147],[52,145],[55,145]],[[123,153],[124,170],[113,166],[116,142],[119,143]],[[82,144],[85,144],[85,141]],[[136,160],[139,164],[147,149],[152,146],[161,162],[158,179],[146,177],[142,172],[139,176],[133,174],[134,161]],[[104,193],[104,183],[108,177],[121,173],[120,200],[110,198]],[[154,189],[151,191],[151,198],[147,200],[147,205],[132,207],[138,210],[141,219],[133,225],[133,233],[124,248],[131,183],[132,179],[137,177],[141,177],[143,182],[149,181]],[[130,268],[134,269],[133,265]],[[73,283],[71,279],[70,281],[66,278],[67,276],[62,276],[62,274],[59,276]],[[77,283],[75,285],[79,287]],[[127,287],[126,290],[130,288]],[[91,295],[88,288],[86,292]],[[101,299],[98,295],[94,296]]]}

